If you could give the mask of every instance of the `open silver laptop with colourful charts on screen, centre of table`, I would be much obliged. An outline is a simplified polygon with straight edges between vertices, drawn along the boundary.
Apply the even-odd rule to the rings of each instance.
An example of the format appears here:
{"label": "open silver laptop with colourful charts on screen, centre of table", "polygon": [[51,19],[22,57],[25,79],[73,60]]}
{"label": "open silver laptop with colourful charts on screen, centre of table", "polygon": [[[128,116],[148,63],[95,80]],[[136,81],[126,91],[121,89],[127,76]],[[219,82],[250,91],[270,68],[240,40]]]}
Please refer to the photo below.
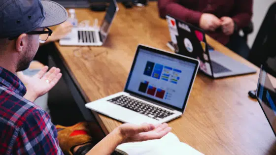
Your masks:
{"label": "open silver laptop with colourful charts on screen, centre of table", "polygon": [[139,45],[124,91],[85,106],[125,123],[171,121],[184,113],[198,68],[196,59]]}

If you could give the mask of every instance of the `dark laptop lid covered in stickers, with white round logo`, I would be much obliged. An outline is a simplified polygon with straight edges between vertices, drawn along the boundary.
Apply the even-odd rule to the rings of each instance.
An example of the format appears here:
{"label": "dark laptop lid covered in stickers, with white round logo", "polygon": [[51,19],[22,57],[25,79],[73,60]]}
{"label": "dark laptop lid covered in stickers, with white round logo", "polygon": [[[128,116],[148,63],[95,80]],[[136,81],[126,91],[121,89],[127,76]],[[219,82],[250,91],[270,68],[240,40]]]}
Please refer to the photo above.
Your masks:
{"label": "dark laptop lid covered in stickers, with white round logo", "polygon": [[200,70],[214,77],[205,32],[189,23],[166,16],[175,52],[200,61]]}

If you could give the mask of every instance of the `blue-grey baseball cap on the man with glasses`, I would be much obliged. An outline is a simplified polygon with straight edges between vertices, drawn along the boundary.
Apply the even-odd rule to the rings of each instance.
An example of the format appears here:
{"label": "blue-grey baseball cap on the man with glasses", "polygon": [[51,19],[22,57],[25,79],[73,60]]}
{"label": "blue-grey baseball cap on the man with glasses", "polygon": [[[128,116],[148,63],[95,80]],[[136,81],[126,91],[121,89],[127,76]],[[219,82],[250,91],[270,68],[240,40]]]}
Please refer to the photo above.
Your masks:
{"label": "blue-grey baseball cap on the man with glasses", "polygon": [[0,0],[0,38],[65,22],[66,9],[50,0]]}

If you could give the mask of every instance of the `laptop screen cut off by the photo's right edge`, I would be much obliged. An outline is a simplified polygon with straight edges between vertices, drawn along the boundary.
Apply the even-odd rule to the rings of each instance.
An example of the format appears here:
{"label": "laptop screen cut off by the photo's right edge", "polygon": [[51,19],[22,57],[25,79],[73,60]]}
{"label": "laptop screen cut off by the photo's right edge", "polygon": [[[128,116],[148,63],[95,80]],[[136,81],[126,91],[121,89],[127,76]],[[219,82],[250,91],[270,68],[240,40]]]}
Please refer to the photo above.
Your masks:
{"label": "laptop screen cut off by the photo's right edge", "polygon": [[276,135],[276,90],[263,67],[260,70],[256,96]]}

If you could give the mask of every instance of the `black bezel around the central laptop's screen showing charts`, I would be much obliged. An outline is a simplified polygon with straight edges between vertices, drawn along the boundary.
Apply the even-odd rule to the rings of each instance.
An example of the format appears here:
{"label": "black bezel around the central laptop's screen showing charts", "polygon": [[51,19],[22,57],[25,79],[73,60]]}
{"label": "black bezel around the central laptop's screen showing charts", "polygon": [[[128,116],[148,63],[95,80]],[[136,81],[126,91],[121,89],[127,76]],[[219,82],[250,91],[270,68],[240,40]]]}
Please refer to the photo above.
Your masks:
{"label": "black bezel around the central laptop's screen showing charts", "polygon": [[[138,56],[138,53],[139,53],[140,49],[146,50],[146,51],[150,51],[150,52],[152,52],[152,53],[157,53],[157,54],[161,54],[161,55],[164,55],[164,56],[169,56],[169,57],[171,57],[171,58],[175,58],[175,59],[179,59],[179,60],[183,60],[183,61],[186,61],[186,62],[191,62],[191,63],[196,64],[195,69],[194,69],[194,72],[193,72],[193,76],[192,76],[192,79],[191,79],[191,82],[190,82],[190,85],[189,85],[189,88],[188,88],[188,91],[187,91],[187,94],[186,94],[186,97],[185,97],[184,102],[183,102],[182,108],[179,108],[179,107],[175,107],[175,106],[169,105],[169,104],[167,104],[167,103],[165,103],[165,102],[158,101],[158,100],[156,100],[156,99],[153,99],[153,98],[150,98],[150,97],[147,97],[147,96],[144,96],[144,95],[141,95],[141,94],[132,92],[132,91],[130,91],[130,90],[127,89],[128,86],[129,86],[129,82],[130,82],[130,79],[131,79],[131,75],[132,75],[134,66],[135,66],[135,64],[136,64],[137,56]],[[158,104],[160,104],[160,105],[164,105],[164,106],[173,108],[174,110],[183,112],[183,111],[185,110],[185,107],[186,107],[188,98],[189,98],[190,93],[191,93],[192,86],[193,86],[194,81],[195,81],[196,74],[197,74],[197,72],[198,72],[199,63],[200,63],[200,62],[199,62],[197,59],[185,57],[185,56],[178,55],[178,54],[169,53],[169,52],[166,52],[166,51],[158,50],[158,49],[151,48],[151,47],[147,47],[147,46],[144,46],[144,45],[138,45],[137,50],[136,50],[136,54],[135,54],[135,57],[134,57],[134,61],[133,61],[133,63],[132,63],[131,71],[130,71],[130,73],[129,73],[129,76],[128,76],[128,79],[127,79],[127,83],[126,83],[126,86],[125,86],[125,89],[124,89],[124,92],[130,93],[130,94],[134,94],[134,95],[136,95],[136,96],[138,96],[138,97],[140,97],[140,98],[144,98],[144,99],[149,100],[149,101],[151,101],[151,102],[155,102],[155,103],[158,103]]]}

